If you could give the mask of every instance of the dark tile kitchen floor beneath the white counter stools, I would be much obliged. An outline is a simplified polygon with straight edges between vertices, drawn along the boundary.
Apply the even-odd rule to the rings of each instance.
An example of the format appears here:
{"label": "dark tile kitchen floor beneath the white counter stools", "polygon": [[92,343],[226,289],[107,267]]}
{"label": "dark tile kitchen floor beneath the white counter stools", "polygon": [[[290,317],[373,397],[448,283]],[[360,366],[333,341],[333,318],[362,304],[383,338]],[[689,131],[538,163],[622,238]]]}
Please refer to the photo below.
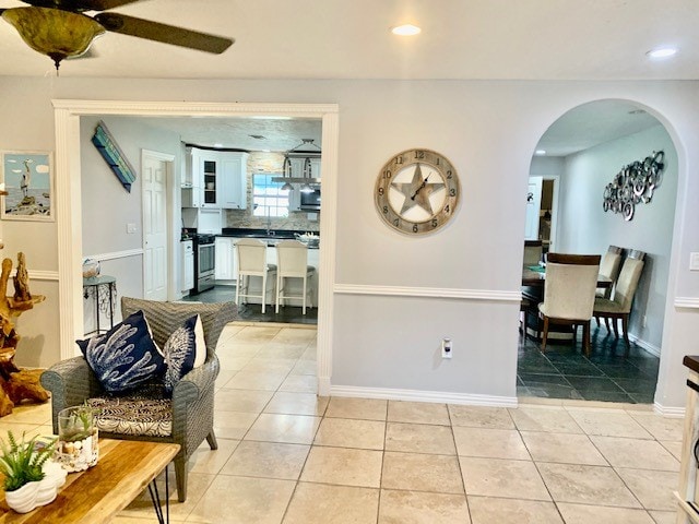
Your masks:
{"label": "dark tile kitchen floor beneath the white counter stools", "polygon": [[[234,286],[215,286],[213,289],[182,298],[197,302],[227,302],[236,300]],[[239,320],[249,322],[279,322],[284,324],[318,324],[318,308],[306,308],[306,314],[300,307],[285,306],[280,308],[279,314],[274,312],[274,306],[268,305],[262,313],[259,303],[240,305],[238,308]]]}

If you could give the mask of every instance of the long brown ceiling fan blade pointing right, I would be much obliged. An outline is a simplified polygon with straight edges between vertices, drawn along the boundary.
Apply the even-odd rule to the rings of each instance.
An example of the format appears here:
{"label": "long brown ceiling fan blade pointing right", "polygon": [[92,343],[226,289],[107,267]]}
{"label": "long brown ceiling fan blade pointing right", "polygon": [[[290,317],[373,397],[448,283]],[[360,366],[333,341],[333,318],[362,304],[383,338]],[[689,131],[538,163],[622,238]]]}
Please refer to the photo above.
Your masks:
{"label": "long brown ceiling fan blade pointing right", "polygon": [[105,29],[200,51],[222,53],[235,41],[233,38],[209,35],[174,25],[151,22],[118,13],[98,13],[94,19]]}

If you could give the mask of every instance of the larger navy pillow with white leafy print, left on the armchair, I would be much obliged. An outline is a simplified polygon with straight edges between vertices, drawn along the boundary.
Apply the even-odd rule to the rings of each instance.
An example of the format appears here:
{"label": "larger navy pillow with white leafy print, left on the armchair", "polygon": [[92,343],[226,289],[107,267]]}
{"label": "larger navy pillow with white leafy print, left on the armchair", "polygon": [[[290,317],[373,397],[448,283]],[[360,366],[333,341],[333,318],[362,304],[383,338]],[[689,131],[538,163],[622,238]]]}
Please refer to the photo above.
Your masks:
{"label": "larger navy pillow with white leafy print, left on the armchair", "polygon": [[151,337],[143,311],[137,311],[107,333],[75,342],[109,393],[132,390],[165,371],[165,361]]}

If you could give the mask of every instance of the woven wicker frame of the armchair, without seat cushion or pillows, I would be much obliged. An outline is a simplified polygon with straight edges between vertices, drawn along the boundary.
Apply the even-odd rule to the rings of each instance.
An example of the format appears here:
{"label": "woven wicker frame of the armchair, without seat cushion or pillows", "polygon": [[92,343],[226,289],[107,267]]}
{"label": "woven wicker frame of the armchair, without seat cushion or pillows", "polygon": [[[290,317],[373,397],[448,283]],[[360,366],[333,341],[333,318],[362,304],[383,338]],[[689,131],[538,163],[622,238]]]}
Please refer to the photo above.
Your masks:
{"label": "woven wicker frame of the armchair, without seat cushion or pillows", "polygon": [[[236,317],[233,302],[158,302],[137,298],[121,298],[123,318],[143,310],[153,338],[163,347],[169,334],[188,318],[199,313],[206,343],[206,359],[202,366],[187,373],[176,385],[171,397],[171,432],[165,437],[111,433],[100,430],[100,437],[127,440],[175,442],[180,451],[175,457],[177,496],[187,499],[187,461],[204,439],[212,450],[217,448],[213,430],[214,381],[218,376],[216,343],[224,325]],[[83,357],[60,361],[42,374],[42,384],[51,392],[54,431],[58,431],[58,412],[82,404],[87,398],[106,396],[99,382]]]}

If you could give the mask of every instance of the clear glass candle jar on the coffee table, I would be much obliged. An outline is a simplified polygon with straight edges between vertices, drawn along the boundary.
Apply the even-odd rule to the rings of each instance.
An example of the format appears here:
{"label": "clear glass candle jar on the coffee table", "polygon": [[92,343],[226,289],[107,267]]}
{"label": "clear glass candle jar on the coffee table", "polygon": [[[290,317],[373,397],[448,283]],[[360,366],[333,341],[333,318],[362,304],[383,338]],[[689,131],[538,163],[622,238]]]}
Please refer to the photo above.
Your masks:
{"label": "clear glass candle jar on the coffee table", "polygon": [[82,472],[97,464],[99,444],[92,409],[73,406],[58,414],[58,443],[54,460],[68,472]]}

